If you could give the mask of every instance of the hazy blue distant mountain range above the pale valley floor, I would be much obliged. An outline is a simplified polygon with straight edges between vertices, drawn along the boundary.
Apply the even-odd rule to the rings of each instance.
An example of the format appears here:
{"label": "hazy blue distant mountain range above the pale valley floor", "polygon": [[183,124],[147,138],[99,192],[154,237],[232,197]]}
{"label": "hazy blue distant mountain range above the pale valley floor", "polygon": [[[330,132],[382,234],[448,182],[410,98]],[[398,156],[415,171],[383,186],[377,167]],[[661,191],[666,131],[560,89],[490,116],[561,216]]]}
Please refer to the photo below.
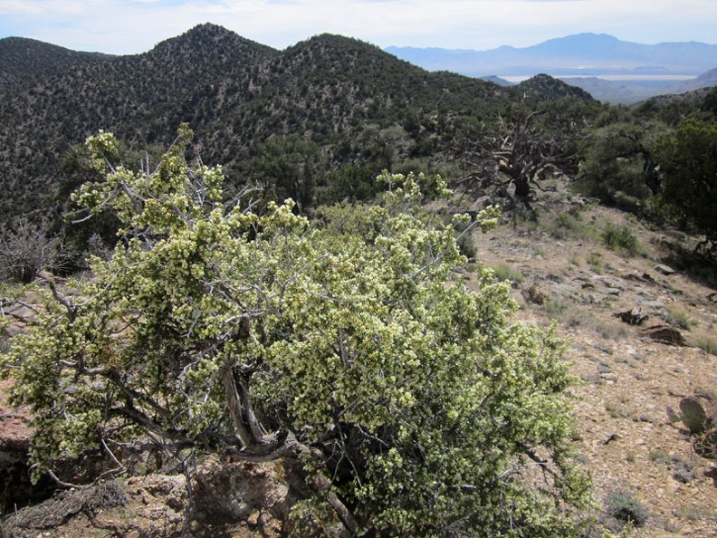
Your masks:
{"label": "hazy blue distant mountain range above the pale valley floor", "polygon": [[566,74],[698,75],[717,66],[717,45],[620,41],[607,34],[576,34],[525,48],[502,46],[489,51],[387,47],[388,53],[430,71],[468,76]]}

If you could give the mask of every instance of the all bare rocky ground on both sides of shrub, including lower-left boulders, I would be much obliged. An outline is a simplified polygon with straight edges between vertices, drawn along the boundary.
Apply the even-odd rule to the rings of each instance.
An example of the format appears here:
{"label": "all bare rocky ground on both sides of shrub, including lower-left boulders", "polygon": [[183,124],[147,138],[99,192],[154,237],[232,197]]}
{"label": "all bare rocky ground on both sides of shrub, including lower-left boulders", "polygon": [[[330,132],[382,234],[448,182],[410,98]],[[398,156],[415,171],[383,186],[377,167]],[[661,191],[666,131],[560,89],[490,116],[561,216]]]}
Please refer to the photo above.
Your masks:
{"label": "all bare rocky ground on both sides of shrub, including lower-left boulders", "polygon": [[[634,536],[717,535],[717,462],[695,454],[679,420],[681,399],[717,391],[714,267],[685,263],[690,237],[565,193],[546,195],[536,209],[537,221],[508,218],[475,235],[475,258],[511,280],[521,320],[558,322],[569,341],[579,379],[571,389],[575,447],[593,477],[589,536],[630,533],[609,515],[616,495],[644,510]],[[608,247],[608,223],[636,243]],[[473,285],[470,271],[460,276]],[[620,312],[646,319],[632,325]],[[26,436],[22,412],[4,407],[0,418],[5,448]],[[155,473],[65,490],[11,511],[3,529],[33,537],[281,536],[292,501],[281,464],[211,458],[188,482]]]}

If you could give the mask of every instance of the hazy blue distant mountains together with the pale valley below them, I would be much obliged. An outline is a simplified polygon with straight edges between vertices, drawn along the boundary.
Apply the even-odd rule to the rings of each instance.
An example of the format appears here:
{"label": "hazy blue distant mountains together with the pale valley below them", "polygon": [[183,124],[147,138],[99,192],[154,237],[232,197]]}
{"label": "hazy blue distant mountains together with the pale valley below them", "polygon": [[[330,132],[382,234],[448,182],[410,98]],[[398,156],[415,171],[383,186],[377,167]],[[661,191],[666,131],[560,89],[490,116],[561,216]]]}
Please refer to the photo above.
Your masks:
{"label": "hazy blue distant mountains together with the pale valley below them", "polygon": [[547,73],[589,91],[600,101],[636,102],[716,83],[717,45],[621,41],[607,34],[575,34],[530,47],[489,51],[387,47],[388,53],[429,71],[508,81]]}

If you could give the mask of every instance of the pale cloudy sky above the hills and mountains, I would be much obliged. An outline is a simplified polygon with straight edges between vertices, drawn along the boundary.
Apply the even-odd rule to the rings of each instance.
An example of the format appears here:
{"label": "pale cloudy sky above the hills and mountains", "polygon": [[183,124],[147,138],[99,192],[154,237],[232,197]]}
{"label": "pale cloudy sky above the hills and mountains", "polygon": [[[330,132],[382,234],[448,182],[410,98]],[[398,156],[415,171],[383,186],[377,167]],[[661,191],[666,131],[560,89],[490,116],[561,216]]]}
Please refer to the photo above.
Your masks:
{"label": "pale cloudy sky above the hills and mountains", "polygon": [[585,32],[717,44],[717,0],[0,0],[0,38],[75,51],[144,53],[203,23],[276,49],[323,33],[478,51]]}

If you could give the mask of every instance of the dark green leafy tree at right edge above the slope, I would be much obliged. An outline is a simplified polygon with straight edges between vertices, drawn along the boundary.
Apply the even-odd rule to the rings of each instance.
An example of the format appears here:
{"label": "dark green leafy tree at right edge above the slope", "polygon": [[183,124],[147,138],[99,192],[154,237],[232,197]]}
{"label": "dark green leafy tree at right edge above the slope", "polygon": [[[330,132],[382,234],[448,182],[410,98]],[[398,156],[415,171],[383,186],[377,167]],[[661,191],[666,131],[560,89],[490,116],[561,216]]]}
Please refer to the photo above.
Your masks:
{"label": "dark green leafy tree at right edge above the slope", "polygon": [[717,245],[717,123],[684,120],[655,146],[664,174],[663,201],[677,222]]}

